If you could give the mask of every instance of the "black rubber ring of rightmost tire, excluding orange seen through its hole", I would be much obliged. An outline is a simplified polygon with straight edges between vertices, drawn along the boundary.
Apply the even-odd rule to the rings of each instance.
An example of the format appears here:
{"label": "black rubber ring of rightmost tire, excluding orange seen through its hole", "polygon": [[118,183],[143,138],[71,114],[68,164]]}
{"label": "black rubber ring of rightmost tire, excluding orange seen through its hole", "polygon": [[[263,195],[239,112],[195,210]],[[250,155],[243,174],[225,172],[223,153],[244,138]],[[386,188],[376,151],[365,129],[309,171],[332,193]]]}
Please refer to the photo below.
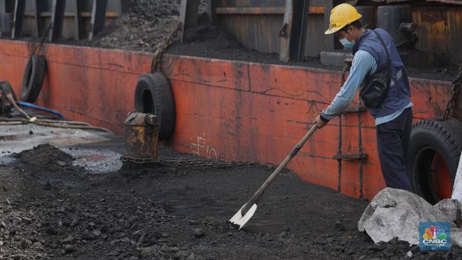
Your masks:
{"label": "black rubber ring of rightmost tire, excluding orange seen through its hole", "polygon": [[[448,166],[451,182],[454,183],[461,156],[462,122],[456,119],[440,121],[426,119],[412,126],[409,141],[408,176],[414,193],[435,204],[440,200],[431,190],[429,174],[432,153],[436,152]],[[430,157],[431,156],[431,157]]]}

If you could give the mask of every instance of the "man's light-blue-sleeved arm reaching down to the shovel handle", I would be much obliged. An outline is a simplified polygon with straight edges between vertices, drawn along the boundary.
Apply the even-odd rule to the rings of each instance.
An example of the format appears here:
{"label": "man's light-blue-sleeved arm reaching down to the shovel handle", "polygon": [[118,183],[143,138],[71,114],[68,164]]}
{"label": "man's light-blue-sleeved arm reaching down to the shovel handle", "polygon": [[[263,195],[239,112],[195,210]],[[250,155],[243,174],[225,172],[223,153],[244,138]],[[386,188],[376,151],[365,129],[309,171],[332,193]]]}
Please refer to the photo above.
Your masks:
{"label": "man's light-blue-sleeved arm reaching down to the shovel handle", "polygon": [[335,98],[329,107],[324,109],[323,112],[321,112],[321,114],[315,119],[319,128],[322,128],[328,123],[328,121],[338,117],[345,111],[348,105],[353,102],[356,92],[358,91],[362,81],[365,79],[367,73],[375,71],[376,68],[377,65],[375,63],[375,59],[370,53],[367,53],[364,50],[359,50],[355,54],[353,64],[350,69],[350,75],[348,75],[348,80],[346,80],[343,87],[341,87],[340,91],[335,95]]}

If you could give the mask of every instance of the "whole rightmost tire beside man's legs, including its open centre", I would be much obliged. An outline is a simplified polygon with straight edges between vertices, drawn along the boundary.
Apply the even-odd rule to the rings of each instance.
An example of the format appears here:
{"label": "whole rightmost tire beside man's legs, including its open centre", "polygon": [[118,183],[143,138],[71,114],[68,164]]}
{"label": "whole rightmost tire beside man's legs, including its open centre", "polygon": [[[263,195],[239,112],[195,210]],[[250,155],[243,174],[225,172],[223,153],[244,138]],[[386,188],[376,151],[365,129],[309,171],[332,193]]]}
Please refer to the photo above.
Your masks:
{"label": "whole rightmost tire beside man's legs, including its open centre", "polygon": [[414,193],[435,204],[451,197],[462,148],[462,122],[428,119],[412,126],[409,180]]}

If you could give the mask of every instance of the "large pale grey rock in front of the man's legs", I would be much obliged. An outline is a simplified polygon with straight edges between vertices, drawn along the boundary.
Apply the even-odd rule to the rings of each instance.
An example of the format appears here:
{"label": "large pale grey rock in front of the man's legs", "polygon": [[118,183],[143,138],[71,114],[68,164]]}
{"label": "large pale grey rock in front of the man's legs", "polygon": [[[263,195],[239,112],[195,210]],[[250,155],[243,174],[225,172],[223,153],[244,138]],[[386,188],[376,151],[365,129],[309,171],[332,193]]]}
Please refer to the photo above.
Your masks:
{"label": "large pale grey rock in front of the man's legs", "polygon": [[409,244],[419,244],[419,222],[448,221],[453,223],[451,243],[462,245],[462,229],[455,224],[461,209],[458,200],[442,200],[433,206],[414,193],[385,188],[367,206],[358,229],[367,232],[375,243],[398,237]]}

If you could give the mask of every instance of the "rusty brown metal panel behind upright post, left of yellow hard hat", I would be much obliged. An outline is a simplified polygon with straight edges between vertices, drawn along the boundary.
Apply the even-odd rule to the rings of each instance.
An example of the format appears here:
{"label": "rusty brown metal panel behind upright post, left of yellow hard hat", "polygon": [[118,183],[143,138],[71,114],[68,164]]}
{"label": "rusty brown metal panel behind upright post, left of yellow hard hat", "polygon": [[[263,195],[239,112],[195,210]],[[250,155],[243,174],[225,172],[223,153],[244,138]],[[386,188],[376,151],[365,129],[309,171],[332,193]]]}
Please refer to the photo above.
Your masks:
{"label": "rusty brown metal panel behind upright post, left of yellow hard hat", "polygon": [[[219,0],[218,24],[246,48],[279,53],[279,29],[284,21],[284,4],[285,1],[281,0]],[[311,1],[305,55],[316,56],[323,50],[323,4],[323,0]]]}

